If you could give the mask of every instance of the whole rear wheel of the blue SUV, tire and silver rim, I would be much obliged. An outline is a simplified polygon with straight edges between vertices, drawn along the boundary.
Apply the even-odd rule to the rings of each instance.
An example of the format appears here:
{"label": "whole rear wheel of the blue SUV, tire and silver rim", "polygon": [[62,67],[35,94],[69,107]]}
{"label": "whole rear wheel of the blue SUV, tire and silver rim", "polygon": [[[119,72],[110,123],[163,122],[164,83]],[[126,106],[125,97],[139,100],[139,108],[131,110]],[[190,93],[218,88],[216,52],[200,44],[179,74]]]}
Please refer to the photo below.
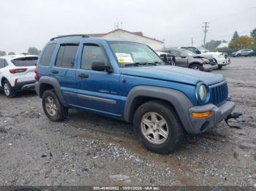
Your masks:
{"label": "whole rear wheel of the blue SUV, tire and silver rim", "polygon": [[55,90],[46,90],[42,94],[42,108],[46,116],[54,122],[64,120],[67,116],[67,107],[61,104]]}

